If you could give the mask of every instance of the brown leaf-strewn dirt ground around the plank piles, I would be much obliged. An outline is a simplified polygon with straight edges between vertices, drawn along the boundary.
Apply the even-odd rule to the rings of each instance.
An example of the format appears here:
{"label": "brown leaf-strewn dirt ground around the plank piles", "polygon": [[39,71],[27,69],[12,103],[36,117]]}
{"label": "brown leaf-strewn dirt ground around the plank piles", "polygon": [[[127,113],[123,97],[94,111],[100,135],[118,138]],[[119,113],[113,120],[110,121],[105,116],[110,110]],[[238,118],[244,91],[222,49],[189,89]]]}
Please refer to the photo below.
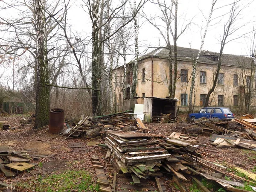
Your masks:
{"label": "brown leaf-strewn dirt ground around the plank piles", "polygon": [[[3,173],[0,173],[1,182],[15,184],[20,182],[20,180],[29,180],[29,177],[32,175],[61,173],[64,170],[79,169],[87,170],[96,182],[96,174],[91,163],[92,155],[100,157],[102,165],[105,166],[104,170],[106,174],[111,177],[111,170],[106,166],[106,162],[102,158],[105,157],[105,152],[102,151],[102,148],[87,145],[84,145],[83,148],[70,148],[68,146],[70,143],[80,142],[85,144],[91,140],[85,140],[83,138],[68,138],[64,140],[64,136],[49,134],[46,130],[33,130],[33,124],[20,126],[20,119],[21,116],[0,117],[1,122],[16,128],[15,130],[0,130],[0,145],[8,145],[9,148],[16,151],[27,151],[30,156],[49,156],[39,160],[32,160],[32,163],[36,164],[41,162],[42,166],[35,166],[35,169],[31,172],[25,172],[18,177],[7,179]],[[172,132],[179,132],[182,128],[186,128],[187,124],[150,123],[147,126],[152,134],[169,136]],[[104,140],[101,140],[101,138],[96,138],[96,140],[97,139],[100,143],[104,143]],[[206,144],[205,147],[198,148],[198,152],[204,155],[205,160],[222,165],[234,164],[245,170],[251,170],[253,166],[256,166],[256,153],[251,153],[239,148],[215,148],[215,146],[209,144],[209,137],[199,136],[198,140]],[[172,183],[170,178],[171,177],[168,177],[168,175],[164,175],[164,177],[160,178],[165,182],[168,191],[173,190],[170,186]],[[120,189],[121,187],[117,186],[117,188]],[[26,191],[26,189],[19,191]]]}

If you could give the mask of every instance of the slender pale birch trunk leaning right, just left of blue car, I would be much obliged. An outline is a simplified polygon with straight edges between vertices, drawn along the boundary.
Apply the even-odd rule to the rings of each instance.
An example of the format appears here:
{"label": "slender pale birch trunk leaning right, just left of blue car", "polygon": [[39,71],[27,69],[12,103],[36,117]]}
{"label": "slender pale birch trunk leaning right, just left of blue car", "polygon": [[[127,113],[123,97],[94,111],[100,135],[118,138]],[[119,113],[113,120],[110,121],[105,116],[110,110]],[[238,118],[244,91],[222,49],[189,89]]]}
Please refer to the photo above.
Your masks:
{"label": "slender pale birch trunk leaning right, just left of blue car", "polygon": [[[217,0],[212,0],[212,6],[211,6],[209,16],[208,16],[208,19],[207,19],[207,23],[206,23],[206,26],[205,26],[205,29],[204,29],[204,35],[202,37],[201,47],[198,50],[198,54],[197,54],[195,60],[193,61],[191,86],[190,86],[190,90],[189,90],[189,112],[188,113],[192,113],[194,111],[194,105],[195,105],[195,93],[194,93],[194,91],[195,91],[195,73],[196,73],[196,70],[197,70],[197,63],[198,63],[198,59],[201,55],[202,49],[204,47],[204,39],[205,39],[205,36],[207,34],[208,26],[209,26],[209,23],[210,23],[211,17],[212,17],[212,12],[214,11],[213,8],[214,8],[216,2],[217,2]],[[194,105],[192,104],[193,94],[194,94]]]}

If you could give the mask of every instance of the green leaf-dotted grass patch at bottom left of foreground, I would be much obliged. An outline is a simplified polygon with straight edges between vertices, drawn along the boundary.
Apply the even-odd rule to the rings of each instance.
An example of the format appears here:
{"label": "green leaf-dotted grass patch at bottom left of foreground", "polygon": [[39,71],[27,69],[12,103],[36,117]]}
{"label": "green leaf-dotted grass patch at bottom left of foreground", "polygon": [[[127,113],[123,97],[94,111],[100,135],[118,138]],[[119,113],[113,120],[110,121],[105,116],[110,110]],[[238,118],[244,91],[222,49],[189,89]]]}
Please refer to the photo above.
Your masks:
{"label": "green leaf-dotted grass patch at bottom left of foreground", "polygon": [[84,170],[72,170],[46,176],[39,175],[37,178],[31,179],[29,183],[17,183],[17,187],[26,188],[28,192],[99,191],[99,185],[94,184],[89,173]]}

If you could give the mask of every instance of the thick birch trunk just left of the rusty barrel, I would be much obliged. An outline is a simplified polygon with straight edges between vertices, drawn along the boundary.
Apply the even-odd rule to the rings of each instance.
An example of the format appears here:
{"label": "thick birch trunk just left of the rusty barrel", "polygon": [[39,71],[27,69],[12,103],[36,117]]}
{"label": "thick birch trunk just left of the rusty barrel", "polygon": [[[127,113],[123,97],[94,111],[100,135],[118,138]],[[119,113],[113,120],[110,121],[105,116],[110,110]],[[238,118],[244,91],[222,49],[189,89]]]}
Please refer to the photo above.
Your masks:
{"label": "thick birch trunk just left of the rusty barrel", "polygon": [[35,0],[35,30],[37,32],[36,66],[37,66],[37,87],[36,87],[36,109],[35,126],[40,128],[49,123],[50,93],[49,93],[49,70],[47,60],[47,38],[45,1]]}

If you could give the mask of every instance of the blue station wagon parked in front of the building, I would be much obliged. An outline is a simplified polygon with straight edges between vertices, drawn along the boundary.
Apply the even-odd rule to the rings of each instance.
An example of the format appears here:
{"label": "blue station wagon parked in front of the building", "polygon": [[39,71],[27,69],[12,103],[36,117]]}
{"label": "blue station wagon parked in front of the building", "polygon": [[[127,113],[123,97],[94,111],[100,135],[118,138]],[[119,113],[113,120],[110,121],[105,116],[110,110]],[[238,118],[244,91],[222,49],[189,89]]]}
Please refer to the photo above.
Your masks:
{"label": "blue station wagon parked in front of the building", "polygon": [[189,117],[192,121],[199,119],[201,117],[206,117],[207,119],[220,119],[220,120],[230,120],[234,119],[234,114],[229,108],[202,108],[198,113],[190,113]]}

